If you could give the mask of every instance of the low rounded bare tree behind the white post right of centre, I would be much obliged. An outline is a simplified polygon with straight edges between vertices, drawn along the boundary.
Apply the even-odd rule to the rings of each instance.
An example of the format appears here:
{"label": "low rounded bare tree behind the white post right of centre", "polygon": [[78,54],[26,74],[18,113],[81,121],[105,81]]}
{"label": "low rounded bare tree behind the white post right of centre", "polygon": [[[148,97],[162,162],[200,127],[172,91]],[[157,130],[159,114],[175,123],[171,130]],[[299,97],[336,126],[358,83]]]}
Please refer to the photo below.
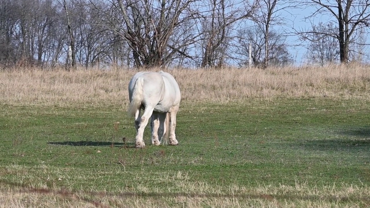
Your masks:
{"label": "low rounded bare tree behind the white post right of centre", "polygon": [[285,43],[285,37],[277,31],[270,29],[268,34],[268,57],[266,58],[265,34],[259,27],[243,28],[238,31],[238,41],[235,46],[235,54],[238,55],[239,66],[248,65],[249,43],[252,45],[252,62],[256,67],[265,67],[265,60],[269,60],[270,66],[284,66],[293,62]]}

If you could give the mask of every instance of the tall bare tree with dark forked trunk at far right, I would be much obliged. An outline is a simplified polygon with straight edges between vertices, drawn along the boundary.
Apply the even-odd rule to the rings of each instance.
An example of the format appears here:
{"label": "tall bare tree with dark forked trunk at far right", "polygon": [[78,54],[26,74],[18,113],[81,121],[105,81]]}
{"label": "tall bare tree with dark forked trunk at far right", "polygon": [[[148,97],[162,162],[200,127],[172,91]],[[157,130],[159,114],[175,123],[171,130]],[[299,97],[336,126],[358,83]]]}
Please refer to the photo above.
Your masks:
{"label": "tall bare tree with dark forked trunk at far right", "polygon": [[314,7],[314,12],[305,17],[305,20],[310,21],[318,15],[328,15],[333,19],[329,20],[328,23],[336,24],[338,27],[336,33],[333,33],[333,31],[297,31],[301,40],[317,41],[317,34],[334,37],[339,44],[340,62],[348,63],[350,45],[357,43],[356,33],[361,28],[369,26],[369,0],[305,0],[302,3]]}

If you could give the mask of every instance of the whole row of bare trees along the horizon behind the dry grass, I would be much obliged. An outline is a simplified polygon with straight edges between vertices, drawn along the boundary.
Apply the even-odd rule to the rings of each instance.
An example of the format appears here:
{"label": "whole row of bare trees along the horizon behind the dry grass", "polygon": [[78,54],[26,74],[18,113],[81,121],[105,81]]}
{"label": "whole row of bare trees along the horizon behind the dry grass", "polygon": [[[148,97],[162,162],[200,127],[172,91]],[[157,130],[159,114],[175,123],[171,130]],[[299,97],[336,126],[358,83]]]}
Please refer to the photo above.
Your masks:
{"label": "whole row of bare trees along the horizon behind the dry grass", "polygon": [[[0,0],[0,65],[245,66],[249,43],[254,65],[290,64],[286,33],[273,28],[287,25],[280,12],[293,7],[288,1]],[[367,6],[361,8],[367,15]],[[344,16],[344,28],[364,28],[367,17]],[[340,40],[331,54],[312,56],[325,62],[339,54],[347,60],[357,38],[356,30],[348,29],[343,41],[335,27],[330,33],[304,33],[315,44],[327,44],[320,42],[327,36]]]}

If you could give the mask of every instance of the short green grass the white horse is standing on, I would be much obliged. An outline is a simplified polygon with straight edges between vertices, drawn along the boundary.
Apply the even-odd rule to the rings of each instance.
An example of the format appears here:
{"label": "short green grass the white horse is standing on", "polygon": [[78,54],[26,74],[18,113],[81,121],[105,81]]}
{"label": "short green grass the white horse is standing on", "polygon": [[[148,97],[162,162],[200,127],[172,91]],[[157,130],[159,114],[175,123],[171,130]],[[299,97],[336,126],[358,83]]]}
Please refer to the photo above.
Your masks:
{"label": "short green grass the white horse is standing on", "polygon": [[[146,148],[135,149],[133,118],[121,106],[1,105],[1,186],[170,198],[257,193],[285,202],[302,201],[298,197],[302,194],[297,195],[301,186],[312,195],[307,196],[309,202],[322,200],[319,190],[325,187],[355,186],[369,197],[370,104],[366,101],[184,103],[177,122],[178,146],[151,145],[148,125]],[[286,192],[285,186],[295,187],[295,192]],[[369,203],[361,197],[329,201],[334,207],[338,200],[343,206]],[[173,203],[166,201],[168,206],[178,205]],[[212,203],[203,205],[212,207]]]}

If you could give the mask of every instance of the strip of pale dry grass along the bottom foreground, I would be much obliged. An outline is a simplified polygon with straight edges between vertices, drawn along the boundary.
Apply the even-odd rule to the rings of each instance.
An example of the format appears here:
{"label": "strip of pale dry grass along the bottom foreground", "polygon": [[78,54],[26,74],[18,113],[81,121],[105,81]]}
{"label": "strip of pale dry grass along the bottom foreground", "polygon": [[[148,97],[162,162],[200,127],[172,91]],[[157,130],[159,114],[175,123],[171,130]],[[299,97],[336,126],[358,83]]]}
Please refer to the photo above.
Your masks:
{"label": "strip of pale dry grass along the bottom foreground", "polygon": [[[255,188],[232,185],[214,187],[206,183],[177,184],[188,193],[164,193],[141,187],[135,192],[83,192],[50,188],[1,186],[0,208],[21,207],[367,207],[369,187],[264,185]],[[222,190],[223,189],[223,190]]]}

